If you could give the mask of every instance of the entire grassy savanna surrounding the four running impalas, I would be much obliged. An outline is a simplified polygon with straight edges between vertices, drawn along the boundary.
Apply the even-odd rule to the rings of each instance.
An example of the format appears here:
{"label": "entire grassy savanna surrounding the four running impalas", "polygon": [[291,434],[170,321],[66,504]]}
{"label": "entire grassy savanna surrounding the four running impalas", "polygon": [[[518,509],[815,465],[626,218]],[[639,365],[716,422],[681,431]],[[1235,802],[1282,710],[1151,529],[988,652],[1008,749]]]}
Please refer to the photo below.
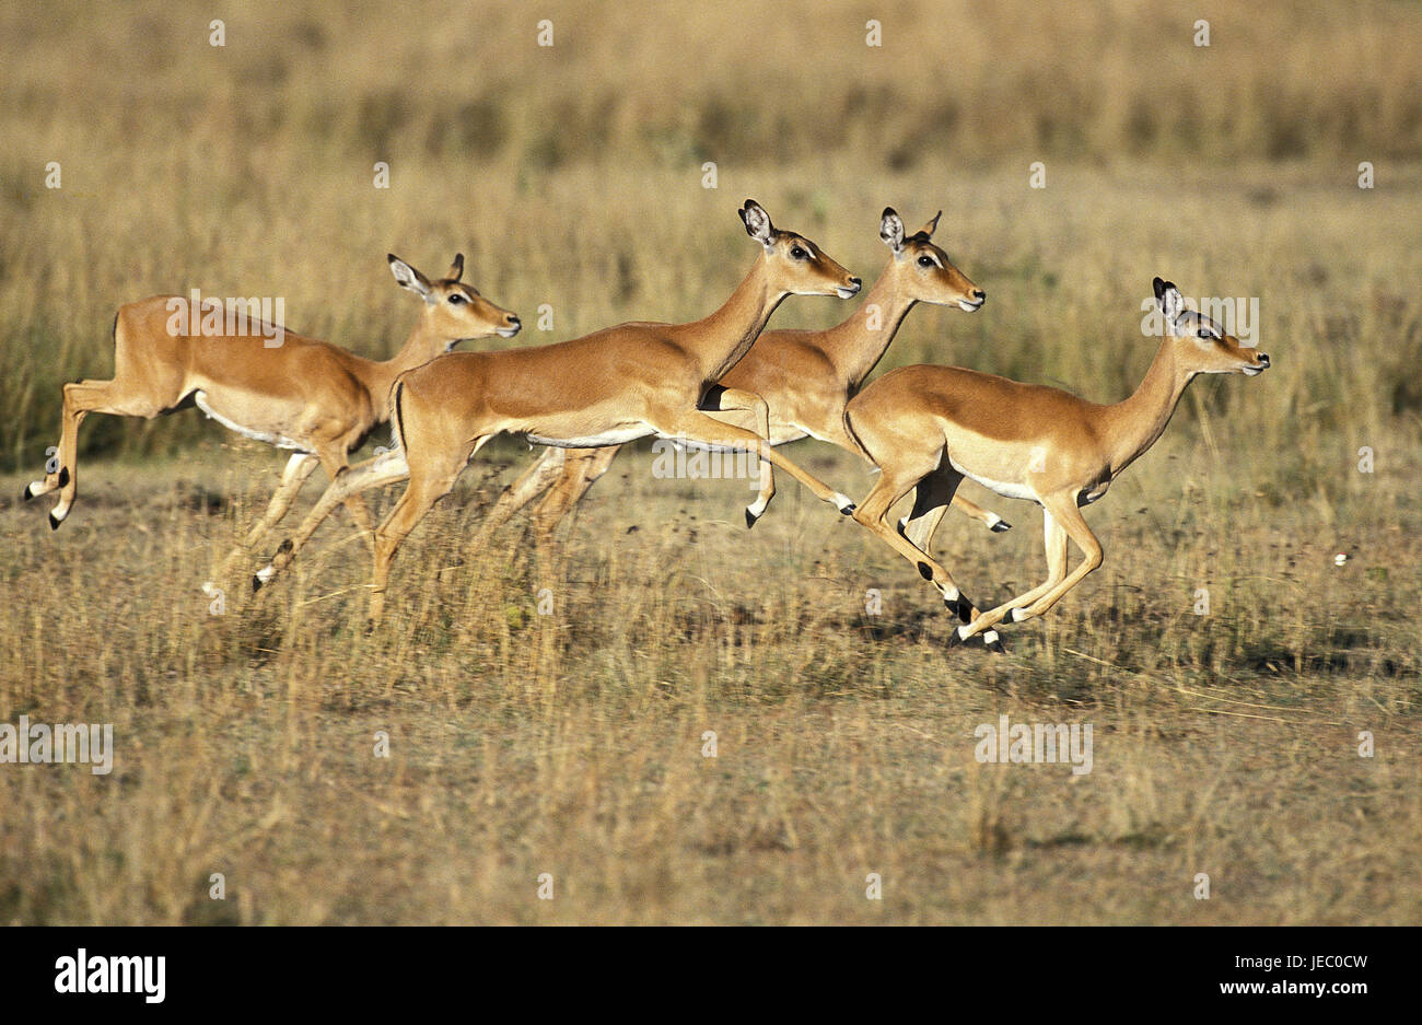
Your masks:
{"label": "entire grassy savanna surrounding the four running impalas", "polygon": [[[0,13],[0,722],[117,744],[109,776],[0,765],[0,920],[1422,920],[1422,11],[883,7],[553,3],[552,48],[512,4],[259,4],[225,47],[205,6]],[[459,249],[528,326],[498,345],[687,320],[754,259],[745,196],[866,281],[886,203],[944,209],[988,303],[919,307],[884,367],[1113,401],[1155,348],[1153,274],[1258,297],[1274,365],[1192,385],[1088,510],[1105,566],[1003,657],[948,651],[912,569],[785,475],[747,532],[745,482],[654,479],[646,446],[550,579],[522,519],[465,549],[530,458],[486,449],[371,635],[344,516],[212,614],[199,584],[282,456],[193,411],[91,418],[60,532],[17,500],[60,384],[108,375],[121,301],[283,296],[293,330],[383,355],[417,313],[384,253]],[[852,306],[791,299],[772,326]],[[786,451],[867,492],[856,458]],[[964,493],[1017,527],[946,517],[964,589],[1038,581],[1039,513]],[[1092,724],[1092,772],[980,765],[1000,715]]]}

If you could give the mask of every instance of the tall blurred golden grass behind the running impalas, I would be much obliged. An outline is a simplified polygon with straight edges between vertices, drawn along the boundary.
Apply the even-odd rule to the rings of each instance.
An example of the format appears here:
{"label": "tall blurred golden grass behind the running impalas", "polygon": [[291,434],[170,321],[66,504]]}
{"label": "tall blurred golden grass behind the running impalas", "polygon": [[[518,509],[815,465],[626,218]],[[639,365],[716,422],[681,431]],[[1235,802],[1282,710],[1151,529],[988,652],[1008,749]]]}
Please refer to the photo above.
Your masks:
{"label": "tall blurred golden grass behind the running impalas", "polygon": [[[1412,220],[1394,205],[1415,195],[1422,155],[1422,10],[1231,11],[550,3],[555,45],[538,47],[536,18],[510,4],[7,4],[0,466],[43,462],[63,381],[107,377],[122,301],[191,287],[284,296],[293,330],[388,354],[415,313],[384,253],[434,270],[464,249],[496,301],[525,317],[555,306],[542,340],[678,320],[742,273],[742,193],[866,276],[882,262],[883,205],[920,219],[947,208],[968,273],[994,296],[1020,290],[994,311],[984,370],[1037,365],[1034,311],[1061,296],[1084,300],[1071,317],[1105,314],[1156,273],[1192,296],[1270,290],[1270,334],[1324,308],[1347,321],[1330,321],[1341,344],[1408,313],[1415,327],[1392,284],[1415,264],[1359,263],[1355,223],[1381,215],[1406,233]],[[222,14],[226,45],[213,47]],[[879,48],[865,44],[870,14]],[[1210,21],[1207,48],[1193,45],[1196,18]],[[51,161],[55,190],[43,188]],[[390,190],[373,188],[377,161]],[[701,188],[705,161],[718,190]],[[1025,188],[1032,161],[1048,165],[1044,192]],[[1381,189],[1355,188],[1361,161]],[[1122,176],[1159,186],[1155,202],[1105,209]],[[1111,213],[1125,235],[1101,230]],[[1307,239],[1285,237],[1304,220]],[[1062,314],[1041,320],[1058,330]],[[1047,347],[1109,354],[1064,357],[1064,380],[1085,385],[1123,360],[1111,340],[1129,318],[1103,321],[1121,331],[1091,323]],[[1422,402],[1415,375],[1398,375],[1415,334],[1385,348],[1364,394]],[[199,419],[94,418],[84,451],[171,451],[206,429]]]}

